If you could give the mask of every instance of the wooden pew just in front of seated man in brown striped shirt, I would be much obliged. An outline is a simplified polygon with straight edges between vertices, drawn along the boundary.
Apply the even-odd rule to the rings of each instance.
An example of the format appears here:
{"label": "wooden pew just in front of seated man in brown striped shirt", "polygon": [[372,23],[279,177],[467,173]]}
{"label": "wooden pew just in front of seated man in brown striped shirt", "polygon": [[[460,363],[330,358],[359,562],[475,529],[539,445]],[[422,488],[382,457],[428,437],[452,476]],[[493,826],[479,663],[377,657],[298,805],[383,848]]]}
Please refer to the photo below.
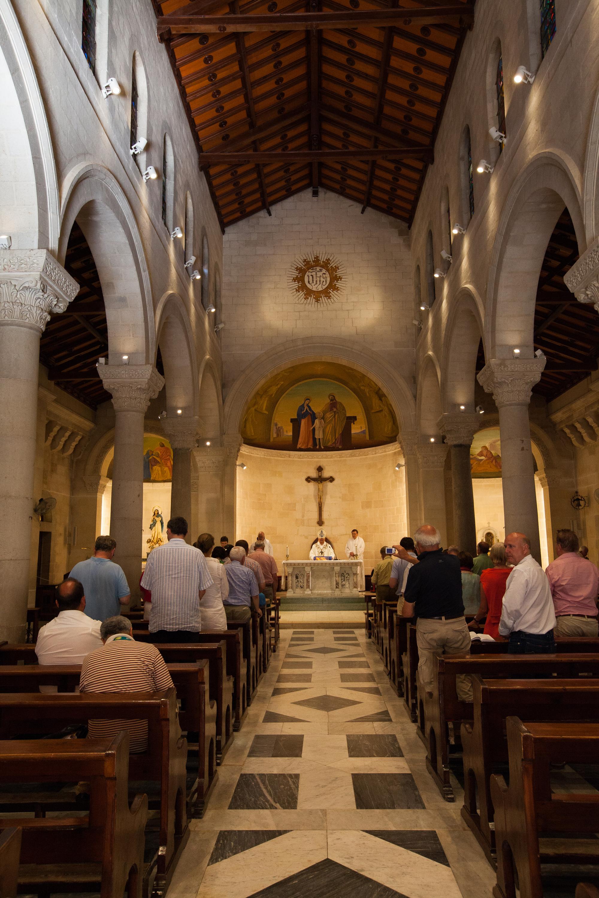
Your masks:
{"label": "wooden pew just in front of seated man in brown striped shirt", "polygon": [[[27,657],[33,654],[31,646],[23,648],[19,654],[25,656],[24,665],[0,665],[0,692],[35,692],[40,686],[55,686],[58,692],[77,691],[81,665],[36,665],[35,655]],[[188,813],[191,817],[202,817],[217,779],[216,702],[209,700],[209,662],[167,663],[166,666],[180,702],[179,723],[188,734],[189,768],[190,755],[198,755],[197,767],[193,763],[197,779],[189,784]]]}

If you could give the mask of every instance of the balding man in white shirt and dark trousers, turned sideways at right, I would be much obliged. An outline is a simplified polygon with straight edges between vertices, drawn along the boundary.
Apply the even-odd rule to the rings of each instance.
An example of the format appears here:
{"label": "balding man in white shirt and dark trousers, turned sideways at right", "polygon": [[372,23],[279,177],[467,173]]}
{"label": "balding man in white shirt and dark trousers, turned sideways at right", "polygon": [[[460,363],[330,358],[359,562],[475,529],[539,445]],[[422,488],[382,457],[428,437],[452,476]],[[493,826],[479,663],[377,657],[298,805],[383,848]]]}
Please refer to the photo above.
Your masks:
{"label": "balding man in white shirt and dark trousers, turned sideways at right", "polygon": [[531,541],[524,533],[508,533],[504,541],[507,563],[514,570],[507,577],[499,634],[509,637],[510,655],[555,652],[555,611],[549,580],[531,555]]}

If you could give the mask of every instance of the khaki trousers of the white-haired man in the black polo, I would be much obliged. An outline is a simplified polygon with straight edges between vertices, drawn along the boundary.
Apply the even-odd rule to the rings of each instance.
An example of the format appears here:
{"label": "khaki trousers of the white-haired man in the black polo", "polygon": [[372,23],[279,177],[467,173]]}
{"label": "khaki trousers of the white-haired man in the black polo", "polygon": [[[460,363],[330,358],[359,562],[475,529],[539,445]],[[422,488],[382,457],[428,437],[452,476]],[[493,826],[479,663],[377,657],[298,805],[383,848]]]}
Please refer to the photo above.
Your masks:
{"label": "khaki trousers of the white-haired man in the black polo", "polygon": [[[431,621],[418,618],[416,621],[416,641],[418,643],[418,676],[425,689],[431,689],[436,671],[436,658],[443,655],[470,655],[471,638],[465,618],[453,621]],[[472,683],[469,676],[460,674],[455,678],[458,699],[472,700]]]}

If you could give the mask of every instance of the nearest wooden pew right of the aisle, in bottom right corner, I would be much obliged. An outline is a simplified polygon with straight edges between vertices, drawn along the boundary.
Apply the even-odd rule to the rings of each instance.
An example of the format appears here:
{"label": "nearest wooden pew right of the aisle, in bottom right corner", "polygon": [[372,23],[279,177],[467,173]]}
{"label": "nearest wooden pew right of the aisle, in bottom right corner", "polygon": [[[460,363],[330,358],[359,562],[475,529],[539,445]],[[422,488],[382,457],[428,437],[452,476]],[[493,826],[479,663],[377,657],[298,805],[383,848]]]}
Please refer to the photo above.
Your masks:
{"label": "nearest wooden pew right of the aisle, in bottom right corner", "polygon": [[[531,723],[507,718],[509,787],[491,777],[498,847],[495,898],[542,898],[542,863],[596,864],[599,846],[599,794],[551,793],[551,763],[595,763],[599,724]],[[579,833],[586,839],[551,838]],[[578,871],[577,875],[579,875]]]}

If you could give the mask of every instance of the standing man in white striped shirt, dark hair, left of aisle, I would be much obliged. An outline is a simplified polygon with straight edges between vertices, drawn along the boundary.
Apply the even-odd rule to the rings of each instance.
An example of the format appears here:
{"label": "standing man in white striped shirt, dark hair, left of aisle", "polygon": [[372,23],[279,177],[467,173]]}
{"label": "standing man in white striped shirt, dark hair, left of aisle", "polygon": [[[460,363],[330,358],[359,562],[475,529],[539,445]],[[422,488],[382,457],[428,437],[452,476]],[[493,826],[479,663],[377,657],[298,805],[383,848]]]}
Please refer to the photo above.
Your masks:
{"label": "standing man in white striped shirt, dark hair, left of aisle", "polygon": [[166,525],[169,541],[145,562],[141,585],[152,593],[148,629],[154,642],[199,641],[199,600],[212,577],[203,554],[185,541],[187,530],[184,517],[172,517]]}

